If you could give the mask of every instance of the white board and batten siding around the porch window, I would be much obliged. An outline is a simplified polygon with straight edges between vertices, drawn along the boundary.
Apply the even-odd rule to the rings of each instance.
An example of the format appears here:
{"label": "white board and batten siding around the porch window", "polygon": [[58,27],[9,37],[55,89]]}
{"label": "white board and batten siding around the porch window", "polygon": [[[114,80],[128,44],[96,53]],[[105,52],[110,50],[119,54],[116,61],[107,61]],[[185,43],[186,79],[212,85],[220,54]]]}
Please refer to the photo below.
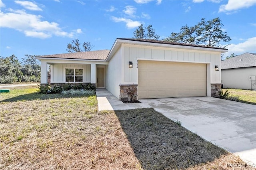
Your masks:
{"label": "white board and batten siding around the porch window", "polygon": [[91,81],[91,65],[90,64],[62,64],[55,63],[51,65],[51,83],[65,83],[65,68],[82,68],[83,82]]}

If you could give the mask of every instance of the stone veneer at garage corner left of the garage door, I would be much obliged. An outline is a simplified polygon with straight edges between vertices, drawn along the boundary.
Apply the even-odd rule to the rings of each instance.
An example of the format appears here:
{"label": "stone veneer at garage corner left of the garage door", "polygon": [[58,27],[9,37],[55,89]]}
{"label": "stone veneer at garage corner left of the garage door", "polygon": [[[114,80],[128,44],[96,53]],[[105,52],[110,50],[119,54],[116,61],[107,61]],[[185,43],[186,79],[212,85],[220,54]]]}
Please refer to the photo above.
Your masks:
{"label": "stone veneer at garage corner left of the garage door", "polygon": [[[132,95],[134,96],[134,101],[138,100],[138,85],[119,85],[120,87],[120,95],[119,100],[120,101],[131,101]],[[132,94],[130,91],[133,91],[134,94]]]}

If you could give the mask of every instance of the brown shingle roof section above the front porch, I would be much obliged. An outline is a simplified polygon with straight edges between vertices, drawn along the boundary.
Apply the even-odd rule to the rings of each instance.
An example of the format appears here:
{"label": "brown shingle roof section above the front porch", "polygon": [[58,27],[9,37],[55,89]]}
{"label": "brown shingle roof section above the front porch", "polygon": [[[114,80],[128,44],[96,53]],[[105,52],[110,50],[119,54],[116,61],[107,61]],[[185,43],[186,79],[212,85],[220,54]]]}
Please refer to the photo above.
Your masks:
{"label": "brown shingle roof section above the front porch", "polygon": [[36,57],[42,58],[60,58],[60,59],[94,59],[94,60],[106,60],[110,50],[98,50],[98,51],[86,51],[78,53],[64,53],[54,55],[40,55]]}

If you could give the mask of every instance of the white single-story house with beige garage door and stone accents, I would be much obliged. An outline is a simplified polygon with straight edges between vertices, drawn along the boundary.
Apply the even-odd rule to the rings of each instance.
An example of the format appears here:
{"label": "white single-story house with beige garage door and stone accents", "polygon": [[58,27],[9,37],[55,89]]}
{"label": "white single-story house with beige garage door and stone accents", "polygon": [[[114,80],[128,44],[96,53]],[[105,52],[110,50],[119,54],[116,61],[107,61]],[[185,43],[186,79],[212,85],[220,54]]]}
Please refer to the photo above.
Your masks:
{"label": "white single-story house with beige garage door and stone accents", "polygon": [[227,49],[158,40],[117,38],[109,50],[37,56],[41,84],[92,83],[120,100],[136,87],[138,99],[218,96],[221,53]]}

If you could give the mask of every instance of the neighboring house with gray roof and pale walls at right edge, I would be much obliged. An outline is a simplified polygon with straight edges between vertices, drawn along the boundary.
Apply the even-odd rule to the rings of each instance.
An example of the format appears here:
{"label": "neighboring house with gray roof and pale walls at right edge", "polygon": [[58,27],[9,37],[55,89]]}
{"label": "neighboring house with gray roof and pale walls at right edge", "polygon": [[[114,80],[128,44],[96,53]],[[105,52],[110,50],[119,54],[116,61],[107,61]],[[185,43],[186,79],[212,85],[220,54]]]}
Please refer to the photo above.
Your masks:
{"label": "neighboring house with gray roof and pale walls at right edge", "polygon": [[224,88],[256,90],[256,53],[244,53],[221,61]]}

